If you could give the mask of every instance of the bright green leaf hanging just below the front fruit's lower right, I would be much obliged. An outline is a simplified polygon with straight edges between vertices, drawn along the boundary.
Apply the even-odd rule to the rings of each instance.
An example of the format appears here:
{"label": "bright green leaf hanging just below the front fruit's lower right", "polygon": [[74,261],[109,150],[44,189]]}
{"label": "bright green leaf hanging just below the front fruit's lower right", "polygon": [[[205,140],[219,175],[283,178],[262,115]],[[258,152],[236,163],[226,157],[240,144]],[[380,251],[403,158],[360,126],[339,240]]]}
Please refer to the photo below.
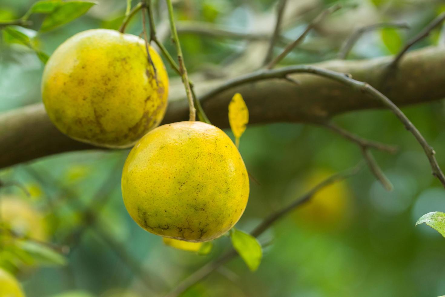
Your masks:
{"label": "bright green leaf hanging just below the front fruit's lower right", "polygon": [[232,245],[251,271],[258,269],[263,257],[263,250],[258,240],[246,232],[232,228]]}

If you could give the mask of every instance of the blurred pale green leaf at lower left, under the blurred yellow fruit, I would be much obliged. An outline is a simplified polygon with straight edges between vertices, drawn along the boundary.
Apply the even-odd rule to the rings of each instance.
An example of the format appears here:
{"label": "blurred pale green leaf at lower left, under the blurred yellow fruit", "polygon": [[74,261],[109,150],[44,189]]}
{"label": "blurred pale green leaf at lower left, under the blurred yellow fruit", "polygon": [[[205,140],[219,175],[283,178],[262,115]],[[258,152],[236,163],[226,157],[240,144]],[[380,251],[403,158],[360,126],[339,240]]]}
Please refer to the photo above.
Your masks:
{"label": "blurred pale green leaf at lower left, under the blurred yellow fruit", "polygon": [[20,240],[17,241],[16,245],[40,264],[65,265],[67,262],[64,256],[43,244],[28,240]]}

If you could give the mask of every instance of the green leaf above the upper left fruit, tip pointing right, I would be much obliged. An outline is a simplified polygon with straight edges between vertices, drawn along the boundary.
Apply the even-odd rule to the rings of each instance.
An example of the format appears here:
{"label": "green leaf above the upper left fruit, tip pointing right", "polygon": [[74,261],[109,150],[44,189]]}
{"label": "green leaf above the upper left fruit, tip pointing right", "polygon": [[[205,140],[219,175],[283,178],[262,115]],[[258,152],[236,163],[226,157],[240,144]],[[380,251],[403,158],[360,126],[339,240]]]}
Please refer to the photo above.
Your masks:
{"label": "green leaf above the upper left fruit, tip pointing right", "polygon": [[53,12],[45,17],[40,32],[47,32],[78,18],[87,12],[95,2],[70,1],[62,2]]}

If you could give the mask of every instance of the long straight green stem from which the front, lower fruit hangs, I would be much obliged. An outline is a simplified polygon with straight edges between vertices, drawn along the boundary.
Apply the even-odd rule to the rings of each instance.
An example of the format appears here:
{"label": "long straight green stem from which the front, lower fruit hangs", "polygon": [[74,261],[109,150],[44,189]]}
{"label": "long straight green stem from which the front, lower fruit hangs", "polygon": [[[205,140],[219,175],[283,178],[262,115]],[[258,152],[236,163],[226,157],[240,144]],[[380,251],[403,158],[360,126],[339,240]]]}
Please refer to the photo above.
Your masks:
{"label": "long straight green stem from which the front, lower fruit hangs", "polygon": [[187,73],[186,65],[184,63],[184,57],[182,56],[182,49],[181,49],[181,44],[179,43],[178,32],[176,31],[176,25],[174,23],[173,5],[171,4],[171,0],[166,0],[166,3],[169,14],[171,37],[173,39],[174,44],[176,45],[176,52],[178,54],[179,73],[182,77],[182,83],[184,84],[184,87],[186,89],[187,100],[189,102],[189,110],[190,110],[189,120],[195,121],[196,110],[194,107],[192,90],[190,88],[189,76]]}

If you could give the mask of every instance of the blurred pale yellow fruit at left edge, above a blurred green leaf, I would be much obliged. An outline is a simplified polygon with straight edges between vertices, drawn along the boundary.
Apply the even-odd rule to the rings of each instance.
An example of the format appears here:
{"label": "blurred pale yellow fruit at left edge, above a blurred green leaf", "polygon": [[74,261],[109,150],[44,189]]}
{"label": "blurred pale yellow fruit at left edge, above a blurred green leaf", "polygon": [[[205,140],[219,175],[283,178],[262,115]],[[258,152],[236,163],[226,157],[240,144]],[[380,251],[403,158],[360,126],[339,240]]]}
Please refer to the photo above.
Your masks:
{"label": "blurred pale yellow fruit at left edge, above a blurred green leaf", "polygon": [[48,238],[44,216],[18,196],[0,198],[0,218],[17,234],[41,241]]}

